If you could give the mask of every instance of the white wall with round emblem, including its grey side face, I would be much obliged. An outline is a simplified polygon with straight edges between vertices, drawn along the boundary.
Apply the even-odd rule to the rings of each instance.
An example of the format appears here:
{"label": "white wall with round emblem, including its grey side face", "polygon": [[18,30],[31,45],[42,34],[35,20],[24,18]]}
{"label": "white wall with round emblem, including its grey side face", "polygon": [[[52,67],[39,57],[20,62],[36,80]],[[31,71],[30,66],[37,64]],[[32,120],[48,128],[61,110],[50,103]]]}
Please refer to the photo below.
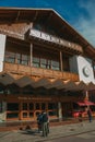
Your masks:
{"label": "white wall with round emblem, including its grey side face", "polygon": [[73,56],[70,58],[70,71],[78,73],[80,81],[95,83],[92,62],[82,56]]}

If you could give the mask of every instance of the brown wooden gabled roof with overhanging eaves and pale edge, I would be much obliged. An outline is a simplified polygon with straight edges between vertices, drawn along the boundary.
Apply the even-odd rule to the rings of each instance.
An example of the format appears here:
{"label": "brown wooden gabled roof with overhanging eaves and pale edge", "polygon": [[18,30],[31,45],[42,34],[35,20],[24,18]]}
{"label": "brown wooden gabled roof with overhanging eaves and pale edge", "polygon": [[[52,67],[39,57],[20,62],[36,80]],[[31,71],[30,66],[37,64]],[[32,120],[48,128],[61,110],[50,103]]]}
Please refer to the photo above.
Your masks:
{"label": "brown wooden gabled roof with overhanging eaves and pale edge", "polygon": [[43,22],[48,27],[51,26],[62,38],[81,45],[84,51],[95,59],[93,45],[52,9],[0,8],[0,21],[8,21],[9,23],[19,21]]}

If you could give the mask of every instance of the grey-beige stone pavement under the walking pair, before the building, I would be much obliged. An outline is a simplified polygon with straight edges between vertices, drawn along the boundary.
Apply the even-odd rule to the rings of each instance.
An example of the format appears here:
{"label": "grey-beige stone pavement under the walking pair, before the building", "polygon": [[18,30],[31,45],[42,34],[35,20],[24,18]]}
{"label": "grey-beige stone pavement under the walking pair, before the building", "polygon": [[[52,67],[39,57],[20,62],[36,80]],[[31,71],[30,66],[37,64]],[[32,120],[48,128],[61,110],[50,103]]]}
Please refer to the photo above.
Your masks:
{"label": "grey-beige stone pavement under the walking pair, before the building", "polygon": [[47,140],[69,137],[95,130],[95,120],[51,127],[47,138],[43,138],[36,129],[0,132],[0,142],[44,142]]}

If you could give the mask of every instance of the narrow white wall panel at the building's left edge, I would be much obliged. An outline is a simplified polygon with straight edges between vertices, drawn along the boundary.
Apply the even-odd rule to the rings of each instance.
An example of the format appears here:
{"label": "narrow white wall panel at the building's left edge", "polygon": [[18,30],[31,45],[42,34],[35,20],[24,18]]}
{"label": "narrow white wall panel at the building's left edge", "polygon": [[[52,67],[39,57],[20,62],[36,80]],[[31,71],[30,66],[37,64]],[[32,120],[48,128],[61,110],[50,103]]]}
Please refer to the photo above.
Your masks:
{"label": "narrow white wall panel at the building's left edge", "polygon": [[0,72],[3,70],[3,58],[5,48],[5,35],[0,34]]}

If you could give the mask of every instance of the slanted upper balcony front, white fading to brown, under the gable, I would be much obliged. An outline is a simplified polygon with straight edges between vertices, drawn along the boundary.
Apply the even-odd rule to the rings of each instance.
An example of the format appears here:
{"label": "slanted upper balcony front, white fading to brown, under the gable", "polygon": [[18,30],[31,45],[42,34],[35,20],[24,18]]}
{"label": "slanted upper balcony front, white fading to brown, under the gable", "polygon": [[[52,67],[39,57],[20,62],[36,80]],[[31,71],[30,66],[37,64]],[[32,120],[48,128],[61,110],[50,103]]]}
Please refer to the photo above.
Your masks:
{"label": "slanted upper balcony front, white fading to brown, under the gable", "polygon": [[52,35],[49,35],[47,33],[44,33],[44,32],[40,32],[40,31],[37,31],[37,29],[32,28],[27,32],[26,35],[27,35],[28,38],[37,38],[37,39],[40,39],[40,40],[45,40],[49,44],[56,44],[56,45],[59,45],[61,47],[66,47],[68,49],[75,50],[80,54],[83,52],[83,49],[80,45],[64,40],[62,38],[59,38],[59,37],[56,37],[56,36],[52,36]]}

